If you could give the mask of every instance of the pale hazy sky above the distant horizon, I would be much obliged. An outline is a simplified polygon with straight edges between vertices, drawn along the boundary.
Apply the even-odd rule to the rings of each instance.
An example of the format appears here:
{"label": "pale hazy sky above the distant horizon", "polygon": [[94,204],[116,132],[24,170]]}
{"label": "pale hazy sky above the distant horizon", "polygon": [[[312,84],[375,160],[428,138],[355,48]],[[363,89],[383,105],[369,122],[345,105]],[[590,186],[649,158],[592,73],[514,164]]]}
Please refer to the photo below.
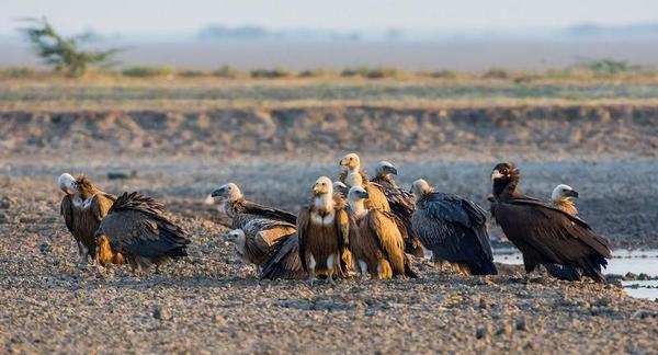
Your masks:
{"label": "pale hazy sky above the distant horizon", "polygon": [[0,0],[0,33],[47,16],[65,32],[197,30],[209,23],[272,28],[483,28],[658,20],[656,0]]}

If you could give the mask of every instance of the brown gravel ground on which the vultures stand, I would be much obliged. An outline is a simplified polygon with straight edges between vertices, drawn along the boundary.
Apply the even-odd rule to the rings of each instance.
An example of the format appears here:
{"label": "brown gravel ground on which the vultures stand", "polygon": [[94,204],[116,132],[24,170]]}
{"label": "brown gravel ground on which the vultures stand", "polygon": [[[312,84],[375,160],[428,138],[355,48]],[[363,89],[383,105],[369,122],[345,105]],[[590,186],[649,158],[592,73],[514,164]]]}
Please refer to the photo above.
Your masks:
{"label": "brown gravel ground on which the vultures stand", "polygon": [[[201,201],[234,180],[256,199],[281,199],[294,209],[305,198],[303,186],[320,173],[333,175],[334,163],[124,158],[75,163],[15,158],[0,167],[0,352],[658,350],[658,302],[629,298],[615,285],[526,279],[514,267],[504,267],[500,276],[463,278],[416,260],[421,277],[413,280],[343,280],[314,288],[259,282],[220,238],[224,227]],[[491,164],[407,162],[400,164],[400,178],[409,183],[426,176],[441,190],[481,202]],[[116,168],[139,174],[106,180]],[[655,247],[655,160],[526,162],[521,168],[534,195],[548,194],[558,182],[577,187],[586,218],[617,245]],[[58,216],[61,195],[54,181],[65,170],[87,172],[112,193],[140,190],[163,198],[192,236],[191,257],[141,277],[121,268],[80,270]],[[281,176],[290,179],[284,183]]]}

